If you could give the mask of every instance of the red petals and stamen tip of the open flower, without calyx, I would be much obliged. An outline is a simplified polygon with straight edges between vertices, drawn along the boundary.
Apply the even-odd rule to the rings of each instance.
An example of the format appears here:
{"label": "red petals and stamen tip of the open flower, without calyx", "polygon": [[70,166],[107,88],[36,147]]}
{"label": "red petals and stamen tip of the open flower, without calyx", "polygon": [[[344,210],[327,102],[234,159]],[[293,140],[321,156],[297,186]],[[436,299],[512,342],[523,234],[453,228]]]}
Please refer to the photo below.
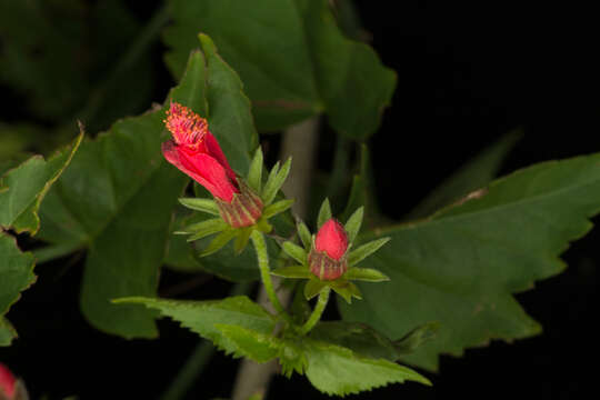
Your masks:
{"label": "red petals and stamen tip of the open flower, without calyx", "polygon": [[162,143],[167,161],[203,186],[216,198],[230,203],[239,193],[236,172],[208,130],[208,122],[189,108],[171,102],[164,120],[173,139]]}

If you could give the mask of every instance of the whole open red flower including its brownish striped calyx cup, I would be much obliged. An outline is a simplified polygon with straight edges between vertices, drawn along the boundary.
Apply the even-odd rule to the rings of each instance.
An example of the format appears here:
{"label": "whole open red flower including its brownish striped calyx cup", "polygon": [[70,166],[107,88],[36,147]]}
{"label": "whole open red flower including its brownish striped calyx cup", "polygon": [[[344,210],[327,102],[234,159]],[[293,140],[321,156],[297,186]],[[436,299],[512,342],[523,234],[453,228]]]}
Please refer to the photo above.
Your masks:
{"label": "whole open red flower including its brownish striped calyx cup", "polygon": [[162,143],[167,161],[211,192],[221,217],[231,227],[254,224],[262,214],[262,200],[238,180],[219,142],[208,130],[207,120],[171,102],[164,123],[173,136]]}

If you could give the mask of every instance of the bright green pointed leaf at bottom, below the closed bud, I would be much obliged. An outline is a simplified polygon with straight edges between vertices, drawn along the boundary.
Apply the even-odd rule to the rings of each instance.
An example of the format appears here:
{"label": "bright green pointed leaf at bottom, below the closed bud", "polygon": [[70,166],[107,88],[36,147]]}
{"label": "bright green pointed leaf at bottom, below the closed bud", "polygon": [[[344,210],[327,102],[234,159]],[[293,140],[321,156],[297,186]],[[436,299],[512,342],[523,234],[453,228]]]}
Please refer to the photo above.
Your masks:
{"label": "bright green pointed leaf at bottom, below the closed bud", "polygon": [[407,380],[431,384],[413,370],[384,359],[361,357],[350,349],[311,342],[306,350],[307,378],[320,391],[346,396]]}

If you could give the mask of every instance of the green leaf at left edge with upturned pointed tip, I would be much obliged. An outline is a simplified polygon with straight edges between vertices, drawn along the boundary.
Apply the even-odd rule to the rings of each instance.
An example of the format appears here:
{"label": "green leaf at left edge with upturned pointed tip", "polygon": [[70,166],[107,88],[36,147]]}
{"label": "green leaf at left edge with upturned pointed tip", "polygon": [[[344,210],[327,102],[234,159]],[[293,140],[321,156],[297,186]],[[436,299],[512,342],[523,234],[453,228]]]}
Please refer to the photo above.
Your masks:
{"label": "green leaf at left edge with upturned pointed tip", "polygon": [[48,161],[33,156],[0,177],[0,227],[36,234],[40,227],[40,203],[73,158],[82,138],[81,131],[70,148],[57,152]]}

